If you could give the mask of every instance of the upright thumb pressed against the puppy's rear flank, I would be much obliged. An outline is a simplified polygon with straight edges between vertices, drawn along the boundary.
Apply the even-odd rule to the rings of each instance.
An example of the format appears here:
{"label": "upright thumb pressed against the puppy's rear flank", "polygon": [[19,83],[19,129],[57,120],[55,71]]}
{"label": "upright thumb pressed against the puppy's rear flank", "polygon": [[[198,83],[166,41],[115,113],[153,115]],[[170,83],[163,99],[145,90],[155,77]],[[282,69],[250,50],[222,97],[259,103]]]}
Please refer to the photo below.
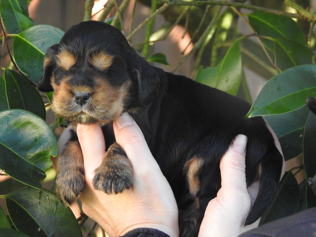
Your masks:
{"label": "upright thumb pressed against the puppy's rear flank", "polygon": [[224,191],[231,192],[236,189],[246,191],[246,144],[247,137],[245,135],[238,135],[231,147],[221,158],[221,189]]}

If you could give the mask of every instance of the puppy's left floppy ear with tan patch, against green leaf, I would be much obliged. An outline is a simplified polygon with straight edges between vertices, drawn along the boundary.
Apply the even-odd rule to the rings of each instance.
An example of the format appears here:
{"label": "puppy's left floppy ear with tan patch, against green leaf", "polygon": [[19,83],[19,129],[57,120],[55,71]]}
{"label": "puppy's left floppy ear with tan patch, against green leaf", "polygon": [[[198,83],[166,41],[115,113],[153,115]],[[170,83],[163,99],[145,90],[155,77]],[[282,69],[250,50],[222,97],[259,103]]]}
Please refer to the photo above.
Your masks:
{"label": "puppy's left floppy ear with tan patch, against green leaf", "polygon": [[59,44],[49,47],[45,54],[44,65],[43,65],[43,76],[37,85],[37,88],[43,92],[53,91],[51,85],[51,76],[56,65],[56,54],[58,52]]}

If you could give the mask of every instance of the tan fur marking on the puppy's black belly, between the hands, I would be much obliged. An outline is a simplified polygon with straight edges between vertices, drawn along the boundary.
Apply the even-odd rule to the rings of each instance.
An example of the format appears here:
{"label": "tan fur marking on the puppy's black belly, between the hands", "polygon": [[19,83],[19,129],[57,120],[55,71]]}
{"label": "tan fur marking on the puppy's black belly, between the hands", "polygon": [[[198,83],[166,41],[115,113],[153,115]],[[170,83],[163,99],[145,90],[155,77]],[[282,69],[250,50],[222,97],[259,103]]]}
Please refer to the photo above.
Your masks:
{"label": "tan fur marking on the puppy's black belly, between the hands", "polygon": [[200,180],[197,177],[197,173],[204,165],[204,161],[201,158],[193,157],[191,160],[185,163],[187,169],[187,178],[189,183],[189,190],[192,195],[196,195],[200,189]]}

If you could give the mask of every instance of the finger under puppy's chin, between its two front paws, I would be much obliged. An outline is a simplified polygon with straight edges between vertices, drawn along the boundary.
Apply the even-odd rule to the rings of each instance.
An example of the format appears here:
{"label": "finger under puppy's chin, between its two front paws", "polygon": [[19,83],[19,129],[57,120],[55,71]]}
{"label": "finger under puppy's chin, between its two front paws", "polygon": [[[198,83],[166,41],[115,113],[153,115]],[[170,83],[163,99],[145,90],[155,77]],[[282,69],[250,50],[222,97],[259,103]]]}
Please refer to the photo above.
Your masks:
{"label": "finger under puppy's chin, between its two front paws", "polygon": [[94,170],[100,166],[105,153],[102,129],[97,124],[78,124],[77,135],[82,149],[85,175],[93,177]]}

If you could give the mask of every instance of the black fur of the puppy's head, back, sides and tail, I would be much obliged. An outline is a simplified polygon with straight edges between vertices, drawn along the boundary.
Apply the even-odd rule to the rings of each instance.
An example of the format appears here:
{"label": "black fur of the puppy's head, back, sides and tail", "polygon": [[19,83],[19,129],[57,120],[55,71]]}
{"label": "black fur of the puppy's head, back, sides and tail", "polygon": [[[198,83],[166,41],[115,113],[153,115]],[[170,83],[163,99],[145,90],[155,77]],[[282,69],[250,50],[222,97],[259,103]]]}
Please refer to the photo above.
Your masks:
{"label": "black fur of the puppy's head, back, sides and tail", "polygon": [[[263,214],[276,193],[283,158],[264,120],[245,119],[250,109],[248,103],[185,76],[150,66],[131,49],[119,30],[105,23],[86,21],[71,27],[59,49],[61,46],[78,58],[73,69],[64,74],[72,75],[80,70],[89,75],[92,87],[94,75],[101,75],[115,86],[126,81],[132,83],[124,111],[136,111],[131,115],[171,185],[179,208],[180,236],[197,236],[205,208],[220,188],[220,158],[238,134],[248,137],[247,185],[257,177],[259,165],[262,167],[259,194],[245,225]],[[54,57],[52,50],[56,52],[56,46],[47,51],[46,57]],[[86,63],[85,58],[93,50],[114,56],[106,72],[93,71]],[[48,74],[54,70],[58,69],[53,63],[44,68],[40,90],[50,89],[48,82],[52,75]],[[55,78],[57,84],[58,80]],[[115,142],[112,124],[104,125],[103,132],[107,146]],[[189,192],[185,169],[185,162],[193,157],[204,160],[197,173],[200,189],[194,196]]]}

